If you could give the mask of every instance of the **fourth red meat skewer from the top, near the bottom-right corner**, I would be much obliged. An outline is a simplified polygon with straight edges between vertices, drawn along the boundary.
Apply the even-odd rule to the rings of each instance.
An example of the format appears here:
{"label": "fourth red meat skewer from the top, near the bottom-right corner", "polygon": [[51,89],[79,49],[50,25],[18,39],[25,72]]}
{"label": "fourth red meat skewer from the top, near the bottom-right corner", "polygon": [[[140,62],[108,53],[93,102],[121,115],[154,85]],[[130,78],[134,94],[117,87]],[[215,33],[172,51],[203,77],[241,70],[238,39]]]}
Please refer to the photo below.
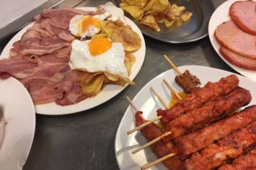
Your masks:
{"label": "fourth red meat skewer from the top, near the bottom-right corner", "polygon": [[229,134],[216,144],[209,145],[201,152],[194,153],[185,161],[186,169],[217,168],[226,163],[228,158],[236,158],[254,144],[256,144],[256,121]]}

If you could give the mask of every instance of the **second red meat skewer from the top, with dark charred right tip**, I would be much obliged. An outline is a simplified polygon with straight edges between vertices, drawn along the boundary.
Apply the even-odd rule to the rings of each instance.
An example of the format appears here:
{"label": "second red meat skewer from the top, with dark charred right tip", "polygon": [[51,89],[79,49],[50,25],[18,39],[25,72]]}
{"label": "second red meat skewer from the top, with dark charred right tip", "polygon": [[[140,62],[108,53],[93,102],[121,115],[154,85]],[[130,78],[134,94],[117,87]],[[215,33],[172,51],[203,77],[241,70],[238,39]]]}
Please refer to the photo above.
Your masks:
{"label": "second red meat skewer from the top, with dark charred right tip", "polygon": [[200,129],[223,116],[236,111],[237,108],[244,107],[252,100],[250,92],[242,87],[227,95],[222,95],[216,100],[205,103],[202,107],[189,111],[170,121],[166,126],[166,131],[172,132],[173,139],[182,134]]}

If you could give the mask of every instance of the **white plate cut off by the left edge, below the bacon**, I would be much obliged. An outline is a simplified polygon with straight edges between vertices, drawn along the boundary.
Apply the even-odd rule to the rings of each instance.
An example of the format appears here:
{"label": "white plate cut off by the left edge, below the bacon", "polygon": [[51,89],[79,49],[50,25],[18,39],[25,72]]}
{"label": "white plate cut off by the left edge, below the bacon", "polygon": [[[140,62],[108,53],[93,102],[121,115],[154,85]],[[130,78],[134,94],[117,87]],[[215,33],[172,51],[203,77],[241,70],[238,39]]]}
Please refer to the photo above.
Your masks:
{"label": "white plate cut off by the left edge, below the bacon", "polygon": [[35,108],[27,89],[15,78],[0,79],[0,96],[7,123],[0,169],[22,169],[35,134]]}

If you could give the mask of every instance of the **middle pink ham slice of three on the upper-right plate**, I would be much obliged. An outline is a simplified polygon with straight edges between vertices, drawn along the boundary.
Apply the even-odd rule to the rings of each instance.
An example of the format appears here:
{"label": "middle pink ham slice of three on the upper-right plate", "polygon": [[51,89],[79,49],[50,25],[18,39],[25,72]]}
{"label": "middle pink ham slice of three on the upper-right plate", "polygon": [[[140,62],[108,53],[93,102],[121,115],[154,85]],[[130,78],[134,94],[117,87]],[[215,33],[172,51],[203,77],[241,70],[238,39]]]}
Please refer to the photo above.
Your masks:
{"label": "middle pink ham slice of three on the upper-right plate", "polygon": [[256,59],[256,36],[245,33],[232,20],[221,23],[216,28],[215,38],[229,50]]}

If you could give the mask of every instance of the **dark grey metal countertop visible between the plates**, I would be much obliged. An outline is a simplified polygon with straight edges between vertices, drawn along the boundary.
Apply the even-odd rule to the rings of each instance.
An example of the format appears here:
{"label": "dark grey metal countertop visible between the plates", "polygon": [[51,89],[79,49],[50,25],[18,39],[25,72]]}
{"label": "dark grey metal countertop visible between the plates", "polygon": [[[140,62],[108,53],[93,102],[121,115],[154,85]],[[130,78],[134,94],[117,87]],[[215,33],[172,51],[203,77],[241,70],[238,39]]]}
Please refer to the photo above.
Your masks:
{"label": "dark grey metal countertop visible between the plates", "polygon": [[[79,6],[99,6],[105,2],[86,0]],[[220,5],[224,1],[215,2]],[[0,51],[12,36],[14,34],[2,39]],[[113,99],[87,111],[63,116],[36,115],[35,137],[24,170],[119,169],[114,139],[129,106],[126,96],[133,98],[148,81],[171,68],[163,54],[168,54],[178,67],[202,65],[237,73],[216,54],[208,36],[189,44],[168,44],[144,38],[146,55],[134,79],[135,86],[128,86]]]}

